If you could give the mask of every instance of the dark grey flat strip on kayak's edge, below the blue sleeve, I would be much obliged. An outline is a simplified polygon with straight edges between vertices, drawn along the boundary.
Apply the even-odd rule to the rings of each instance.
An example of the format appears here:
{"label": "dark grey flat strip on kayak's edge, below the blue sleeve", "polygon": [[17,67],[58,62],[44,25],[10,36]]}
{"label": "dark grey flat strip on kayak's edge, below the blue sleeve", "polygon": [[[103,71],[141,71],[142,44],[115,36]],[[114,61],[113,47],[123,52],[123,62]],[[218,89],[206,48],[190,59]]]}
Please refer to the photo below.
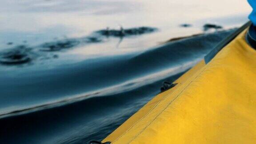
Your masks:
{"label": "dark grey flat strip on kayak's edge, below the blue sleeve", "polygon": [[251,24],[252,24],[252,22],[248,21],[242,27],[240,27],[235,32],[233,32],[231,35],[229,35],[226,39],[222,40],[220,42],[220,44],[218,44],[214,49],[212,49],[211,52],[208,53],[208,55],[204,56],[205,64],[208,64],[214,58],[214,56],[216,56],[216,54],[218,52],[220,52],[220,50],[222,48],[224,48],[227,44],[229,44],[232,40],[234,40],[236,38],[236,36],[238,36],[241,32],[244,31],[244,29],[248,28]]}

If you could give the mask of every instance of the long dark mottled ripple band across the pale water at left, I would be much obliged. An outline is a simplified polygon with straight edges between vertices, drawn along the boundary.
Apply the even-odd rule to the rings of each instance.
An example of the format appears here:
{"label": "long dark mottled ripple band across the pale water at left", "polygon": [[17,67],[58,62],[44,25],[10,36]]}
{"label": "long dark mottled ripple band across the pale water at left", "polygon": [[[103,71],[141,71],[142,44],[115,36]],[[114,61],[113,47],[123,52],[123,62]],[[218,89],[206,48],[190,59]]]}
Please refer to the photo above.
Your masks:
{"label": "long dark mottled ripple band across the pale water at left", "polygon": [[[65,38],[64,40],[54,40],[52,42],[46,42],[44,44],[36,46],[18,45],[14,48],[6,48],[0,52],[0,64],[3,65],[20,65],[26,63],[38,63],[35,62],[36,59],[48,60],[59,58],[58,54],[51,54],[45,52],[63,52],[68,49],[76,47],[85,47],[88,44],[96,44],[106,42],[109,37],[119,38],[116,48],[119,47],[124,37],[129,36],[140,36],[152,32],[156,32],[157,28],[150,27],[139,27],[139,28],[120,28],[120,30],[115,29],[104,29],[99,30],[91,34],[91,36],[83,36],[81,38]],[[7,43],[12,45],[12,42]],[[44,54],[42,53],[44,52]],[[67,52],[68,53],[68,52]],[[126,53],[128,54],[128,53]],[[112,54],[113,55],[113,54]],[[45,62],[45,61],[44,61]],[[48,62],[45,62],[48,64]],[[49,65],[49,64],[48,64]]]}

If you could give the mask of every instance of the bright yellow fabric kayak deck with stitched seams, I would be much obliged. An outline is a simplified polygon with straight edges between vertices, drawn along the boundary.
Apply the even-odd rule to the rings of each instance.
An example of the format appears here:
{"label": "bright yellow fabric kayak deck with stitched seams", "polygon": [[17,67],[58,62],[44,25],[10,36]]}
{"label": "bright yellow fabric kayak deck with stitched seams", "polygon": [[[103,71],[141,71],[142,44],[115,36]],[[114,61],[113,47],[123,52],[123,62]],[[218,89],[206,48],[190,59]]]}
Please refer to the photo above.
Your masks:
{"label": "bright yellow fabric kayak deck with stitched seams", "polygon": [[256,143],[256,50],[245,40],[248,25],[102,142]]}

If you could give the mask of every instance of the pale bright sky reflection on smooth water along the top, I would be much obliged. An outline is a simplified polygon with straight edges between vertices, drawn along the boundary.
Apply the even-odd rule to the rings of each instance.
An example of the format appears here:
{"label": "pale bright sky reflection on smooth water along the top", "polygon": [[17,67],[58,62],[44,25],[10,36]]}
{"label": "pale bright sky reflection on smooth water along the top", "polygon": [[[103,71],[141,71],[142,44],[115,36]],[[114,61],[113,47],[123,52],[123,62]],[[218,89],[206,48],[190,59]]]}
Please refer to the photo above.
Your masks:
{"label": "pale bright sky reflection on smooth water along the top", "polygon": [[[22,44],[24,40],[39,44],[64,36],[84,36],[107,27],[119,28],[120,25],[124,28],[160,28],[158,34],[136,41],[124,40],[121,45],[122,48],[146,48],[171,37],[201,32],[205,23],[218,22],[225,28],[238,26],[247,20],[249,11],[247,2],[241,0],[232,0],[232,4],[229,0],[196,0],[193,3],[187,0],[0,0],[0,46],[8,42]],[[236,17],[221,19],[227,16]],[[242,19],[237,20],[240,17]],[[183,23],[193,27],[178,28]],[[112,41],[109,45],[112,49],[108,51],[115,51],[115,45]]]}

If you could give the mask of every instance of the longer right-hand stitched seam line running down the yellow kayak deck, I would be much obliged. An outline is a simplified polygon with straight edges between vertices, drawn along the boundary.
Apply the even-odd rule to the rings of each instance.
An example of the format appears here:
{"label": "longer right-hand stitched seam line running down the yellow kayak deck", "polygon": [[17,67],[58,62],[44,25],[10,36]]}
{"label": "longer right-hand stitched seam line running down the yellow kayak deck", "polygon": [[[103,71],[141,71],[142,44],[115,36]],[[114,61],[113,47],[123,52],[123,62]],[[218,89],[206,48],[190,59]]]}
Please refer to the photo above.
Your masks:
{"label": "longer right-hand stitched seam line running down the yellow kayak deck", "polygon": [[190,84],[192,84],[192,82],[198,77],[198,76],[200,76],[201,75],[201,73],[202,72],[204,72],[204,70],[206,69],[207,67],[205,66],[204,67],[204,69],[193,79],[193,80],[191,80],[191,82],[145,127],[145,128],[143,128],[142,129],[142,131],[140,132],[140,133],[138,133],[131,141],[129,141],[128,142],[128,144],[130,144],[133,140],[135,140],[142,132],[144,132],[144,130],[146,129],[146,128],[148,128],[148,126],[150,125],[150,124],[152,124],[152,122],[154,121],[154,120],[156,120],[156,118],[158,117],[158,116],[160,116],[160,114],[162,114],[162,112],[164,112],[164,110],[166,109],[166,108],[168,108],[168,106],[170,105],[170,104],[172,104],[172,102],[174,101],[174,100],[176,100],[176,98],[177,97],[179,97],[180,96],[180,94],[182,93],[182,92],[184,92],[184,90],[186,89],[186,88],[188,88],[188,86],[190,85]]}

